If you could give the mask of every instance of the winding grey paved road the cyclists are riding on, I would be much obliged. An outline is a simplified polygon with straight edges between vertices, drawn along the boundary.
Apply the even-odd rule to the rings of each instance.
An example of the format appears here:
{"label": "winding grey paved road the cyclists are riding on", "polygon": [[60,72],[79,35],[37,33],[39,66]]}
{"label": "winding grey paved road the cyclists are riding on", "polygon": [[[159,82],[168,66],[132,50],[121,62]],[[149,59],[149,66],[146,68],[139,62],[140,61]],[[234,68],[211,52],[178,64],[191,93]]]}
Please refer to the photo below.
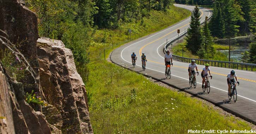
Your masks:
{"label": "winding grey paved road the cyclists are riding on", "polygon": [[[186,8],[190,11],[194,9],[194,6],[174,4],[175,6]],[[206,16],[210,16],[212,12],[206,8],[200,8],[201,21]],[[227,96],[227,82],[226,75],[231,71],[228,68],[210,67],[211,74],[213,76],[210,81],[211,91],[210,93],[202,92],[202,78],[200,75],[197,77],[197,88],[190,88],[189,77],[187,73],[188,63],[178,62],[173,60],[173,67],[171,68],[171,79],[165,79],[165,65],[164,65],[164,53],[163,48],[168,41],[178,36],[177,29],[180,29],[180,33],[183,33],[185,29],[189,27],[190,17],[182,20],[181,22],[174,24],[164,30],[153,33],[151,35],[142,37],[136,41],[127,43],[117,49],[111,54],[112,62],[129,68],[133,71],[146,74],[152,78],[158,79],[163,83],[176,87],[180,90],[189,92],[195,96],[206,99],[221,108],[232,112],[245,120],[248,120],[256,124],[256,73],[250,71],[235,70],[238,76],[240,85],[237,87],[238,97],[237,102],[233,100],[229,101]],[[131,54],[135,52],[138,56],[137,65],[135,68],[131,68]],[[146,71],[142,72],[141,68],[141,53],[144,52],[147,56],[148,62],[146,65]],[[204,66],[198,65],[199,72]]]}

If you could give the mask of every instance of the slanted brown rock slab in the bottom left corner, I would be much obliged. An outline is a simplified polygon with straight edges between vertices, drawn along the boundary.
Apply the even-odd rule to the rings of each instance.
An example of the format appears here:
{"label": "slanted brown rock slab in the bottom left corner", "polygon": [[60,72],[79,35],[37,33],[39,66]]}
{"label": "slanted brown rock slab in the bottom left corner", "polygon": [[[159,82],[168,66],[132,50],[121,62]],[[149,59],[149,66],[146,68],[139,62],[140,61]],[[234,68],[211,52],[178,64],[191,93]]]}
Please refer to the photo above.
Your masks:
{"label": "slanted brown rock slab in the bottom left corner", "polygon": [[7,79],[6,75],[0,66],[0,133],[50,134],[51,129],[41,112],[35,112],[25,102],[22,83]]}

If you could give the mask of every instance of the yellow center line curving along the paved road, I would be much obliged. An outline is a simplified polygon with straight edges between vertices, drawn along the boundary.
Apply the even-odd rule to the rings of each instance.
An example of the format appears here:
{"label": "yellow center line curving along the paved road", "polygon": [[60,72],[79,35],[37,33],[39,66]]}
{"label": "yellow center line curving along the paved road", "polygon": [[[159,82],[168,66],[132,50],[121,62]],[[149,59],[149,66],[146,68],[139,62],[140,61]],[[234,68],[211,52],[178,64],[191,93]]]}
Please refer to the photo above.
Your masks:
{"label": "yellow center line curving along the paved road", "polygon": [[[200,10],[200,11],[201,11],[201,10]],[[202,11],[201,11],[201,12],[202,12]],[[202,17],[202,16],[203,16],[203,12],[202,12],[202,14],[201,14],[200,17]],[[188,24],[190,24],[190,23],[188,23]],[[184,26],[186,26],[186,25],[188,25],[188,24],[185,24]],[[181,26],[180,28],[183,28],[184,26]],[[180,29],[180,28],[178,28],[178,29]],[[176,31],[176,30],[178,30],[178,29],[175,29],[175,30],[173,30],[173,31],[171,31],[171,32],[169,32],[169,33],[167,33],[166,35],[164,35],[164,36],[162,36],[162,37],[156,39],[155,41],[158,41],[159,39],[161,39],[161,38],[163,38],[163,37],[165,37],[165,36],[167,36],[167,35],[173,33],[174,31]],[[149,45],[149,44],[151,44],[151,43],[153,43],[153,42],[155,42],[155,41],[152,41],[152,42],[150,42],[150,43],[144,45],[141,49],[139,49],[139,55],[141,56],[141,51],[142,51],[143,48],[145,48],[147,45]],[[147,59],[147,60],[148,60],[148,59]],[[148,61],[154,62],[154,63],[157,63],[157,64],[161,64],[161,65],[165,65],[164,63],[160,63],[160,62],[156,62],[156,61],[151,61],[151,60],[148,60]],[[186,69],[188,68],[188,67],[181,67],[181,66],[173,66],[173,67],[186,68]],[[199,70],[199,71],[202,71],[202,70]],[[212,74],[217,74],[217,75],[222,75],[222,76],[227,76],[226,74],[221,74],[221,73],[216,73],[216,72],[211,72],[211,73],[212,73]],[[242,79],[242,80],[251,81],[251,82],[255,82],[255,83],[256,83],[256,80],[250,80],[250,79],[245,79],[245,78],[241,78],[241,77],[237,77],[237,78],[238,78],[238,79]]]}

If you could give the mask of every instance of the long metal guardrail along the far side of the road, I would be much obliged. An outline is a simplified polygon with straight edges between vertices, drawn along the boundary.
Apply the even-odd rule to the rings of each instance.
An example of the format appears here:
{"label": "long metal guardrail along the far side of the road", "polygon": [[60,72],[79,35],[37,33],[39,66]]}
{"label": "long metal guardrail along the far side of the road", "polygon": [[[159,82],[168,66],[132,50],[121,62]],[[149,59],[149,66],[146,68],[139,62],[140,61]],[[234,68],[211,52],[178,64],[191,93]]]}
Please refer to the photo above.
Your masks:
{"label": "long metal guardrail along the far side of the road", "polygon": [[[210,16],[208,19],[210,19],[212,16]],[[203,23],[205,23],[205,20],[203,20],[203,22],[200,23],[200,25],[202,25]],[[179,37],[176,37],[174,39],[171,39],[166,45],[165,48],[163,49],[163,53],[166,54],[166,48],[171,45],[174,41],[176,41],[177,39],[183,37],[184,35],[186,35],[187,31],[185,31],[184,33],[182,33]],[[192,59],[192,58],[187,58],[187,57],[182,57],[182,56],[177,56],[177,55],[173,55],[173,59],[177,60],[177,61],[181,61],[181,62],[187,62],[190,63],[191,60],[195,60],[197,64],[200,65],[204,65],[205,63],[209,63],[209,65],[211,66],[218,66],[218,67],[228,67],[228,68],[236,68],[236,69],[242,69],[245,67],[246,71],[248,70],[248,67],[251,67],[251,71],[253,70],[253,68],[256,68],[256,64],[251,64],[251,63],[242,63],[242,62],[229,62],[229,61],[215,61],[215,60],[204,60],[204,59]],[[224,65],[223,65],[224,63]]]}

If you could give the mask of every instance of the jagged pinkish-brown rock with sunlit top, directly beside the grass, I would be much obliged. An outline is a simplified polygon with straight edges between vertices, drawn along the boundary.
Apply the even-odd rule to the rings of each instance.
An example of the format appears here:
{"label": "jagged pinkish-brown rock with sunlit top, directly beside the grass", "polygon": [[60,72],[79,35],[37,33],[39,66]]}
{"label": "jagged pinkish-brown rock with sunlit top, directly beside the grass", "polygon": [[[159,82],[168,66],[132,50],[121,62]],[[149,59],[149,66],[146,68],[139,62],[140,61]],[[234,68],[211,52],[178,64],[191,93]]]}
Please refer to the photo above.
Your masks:
{"label": "jagged pinkish-brown rock with sunlit top, directly beside the grass", "polygon": [[37,40],[37,56],[42,91],[51,104],[44,111],[46,119],[62,133],[92,134],[86,90],[71,50],[62,41],[42,37]]}

